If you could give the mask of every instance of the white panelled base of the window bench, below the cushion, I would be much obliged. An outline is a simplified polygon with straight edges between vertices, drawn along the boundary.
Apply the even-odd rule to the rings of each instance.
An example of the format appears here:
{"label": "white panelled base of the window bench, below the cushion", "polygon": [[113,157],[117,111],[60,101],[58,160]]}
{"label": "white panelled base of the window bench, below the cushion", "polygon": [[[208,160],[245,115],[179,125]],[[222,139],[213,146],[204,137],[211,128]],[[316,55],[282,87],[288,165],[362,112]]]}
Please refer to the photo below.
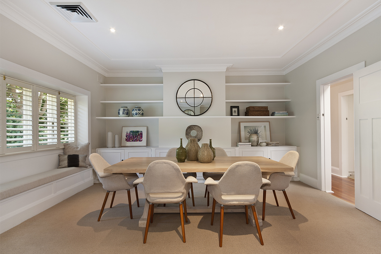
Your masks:
{"label": "white panelled base of the window bench, below the cushion", "polygon": [[0,233],[93,185],[92,170],[86,169],[1,200]]}

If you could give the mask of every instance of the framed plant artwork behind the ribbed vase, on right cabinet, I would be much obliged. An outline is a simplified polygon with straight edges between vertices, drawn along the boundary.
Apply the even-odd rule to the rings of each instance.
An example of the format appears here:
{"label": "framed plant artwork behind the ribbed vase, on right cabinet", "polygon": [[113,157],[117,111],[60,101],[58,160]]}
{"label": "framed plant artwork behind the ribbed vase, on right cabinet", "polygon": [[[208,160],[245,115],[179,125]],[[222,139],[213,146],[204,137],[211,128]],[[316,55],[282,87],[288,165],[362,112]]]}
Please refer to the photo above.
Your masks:
{"label": "framed plant artwork behind the ribbed vase, on right cabinet", "polygon": [[251,133],[258,134],[259,142],[270,142],[270,122],[239,122],[240,142],[248,142]]}

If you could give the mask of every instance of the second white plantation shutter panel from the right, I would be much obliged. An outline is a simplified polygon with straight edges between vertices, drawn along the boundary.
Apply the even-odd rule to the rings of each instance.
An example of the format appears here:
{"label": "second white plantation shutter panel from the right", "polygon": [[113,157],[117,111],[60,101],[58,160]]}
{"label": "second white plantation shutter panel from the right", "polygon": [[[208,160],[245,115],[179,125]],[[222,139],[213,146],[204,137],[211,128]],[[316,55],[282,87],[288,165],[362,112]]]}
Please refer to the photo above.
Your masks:
{"label": "second white plantation shutter panel from the right", "polygon": [[37,122],[38,147],[45,149],[57,147],[58,143],[58,108],[57,93],[38,87],[37,92]]}

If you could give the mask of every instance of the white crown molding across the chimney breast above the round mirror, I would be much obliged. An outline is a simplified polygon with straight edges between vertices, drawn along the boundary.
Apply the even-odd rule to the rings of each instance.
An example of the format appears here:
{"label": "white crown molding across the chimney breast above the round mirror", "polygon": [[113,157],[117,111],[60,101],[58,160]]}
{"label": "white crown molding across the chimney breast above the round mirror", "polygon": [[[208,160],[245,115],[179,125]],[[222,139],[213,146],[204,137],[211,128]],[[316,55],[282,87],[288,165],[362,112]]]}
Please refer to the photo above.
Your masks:
{"label": "white crown molding across the chimney breast above the round mirror", "polygon": [[162,72],[226,71],[233,64],[157,65]]}

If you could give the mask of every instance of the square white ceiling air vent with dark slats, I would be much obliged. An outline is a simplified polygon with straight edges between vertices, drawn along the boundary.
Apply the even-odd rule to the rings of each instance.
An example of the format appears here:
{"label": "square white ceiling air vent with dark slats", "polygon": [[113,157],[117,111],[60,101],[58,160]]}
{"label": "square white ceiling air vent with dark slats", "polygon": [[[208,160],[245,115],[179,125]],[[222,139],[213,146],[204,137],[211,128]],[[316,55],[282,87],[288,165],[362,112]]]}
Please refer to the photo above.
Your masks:
{"label": "square white ceiling air vent with dark slats", "polygon": [[98,22],[82,2],[49,2],[71,23]]}

